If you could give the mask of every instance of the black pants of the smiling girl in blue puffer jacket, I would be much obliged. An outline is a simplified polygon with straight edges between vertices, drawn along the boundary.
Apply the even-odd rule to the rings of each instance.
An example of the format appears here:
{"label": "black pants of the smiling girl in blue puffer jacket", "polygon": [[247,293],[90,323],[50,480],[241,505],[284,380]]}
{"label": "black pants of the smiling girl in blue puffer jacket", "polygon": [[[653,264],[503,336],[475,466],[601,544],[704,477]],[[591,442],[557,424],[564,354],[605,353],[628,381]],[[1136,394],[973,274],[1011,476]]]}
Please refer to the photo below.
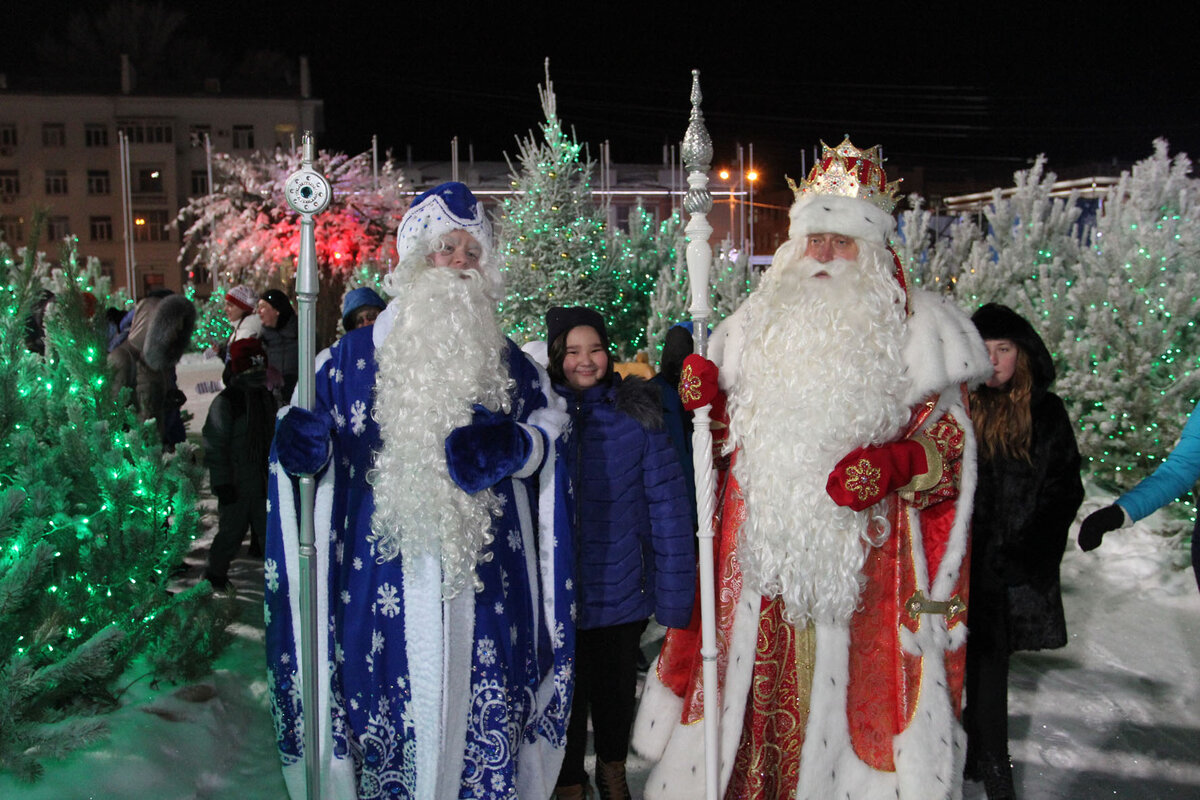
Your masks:
{"label": "black pants of the smiling girl in blue puffer jacket", "polygon": [[634,724],[637,694],[637,654],[647,620],[577,631],[575,634],[575,696],[566,727],[566,753],[558,786],[584,783],[583,754],[588,746],[588,714],[596,758],[624,762]]}

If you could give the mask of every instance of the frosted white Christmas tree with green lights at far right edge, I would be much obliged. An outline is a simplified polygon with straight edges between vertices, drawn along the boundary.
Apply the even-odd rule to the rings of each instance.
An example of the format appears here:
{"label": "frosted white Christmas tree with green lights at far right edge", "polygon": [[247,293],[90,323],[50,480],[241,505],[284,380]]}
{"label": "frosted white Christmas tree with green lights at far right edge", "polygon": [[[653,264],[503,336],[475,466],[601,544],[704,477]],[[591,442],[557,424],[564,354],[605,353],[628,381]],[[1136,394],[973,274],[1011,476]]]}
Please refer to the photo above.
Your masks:
{"label": "frosted white Christmas tree with green lights at far right edge", "polygon": [[1186,155],[1121,174],[1070,287],[1058,389],[1093,476],[1126,489],[1178,439],[1200,390],[1200,181]]}

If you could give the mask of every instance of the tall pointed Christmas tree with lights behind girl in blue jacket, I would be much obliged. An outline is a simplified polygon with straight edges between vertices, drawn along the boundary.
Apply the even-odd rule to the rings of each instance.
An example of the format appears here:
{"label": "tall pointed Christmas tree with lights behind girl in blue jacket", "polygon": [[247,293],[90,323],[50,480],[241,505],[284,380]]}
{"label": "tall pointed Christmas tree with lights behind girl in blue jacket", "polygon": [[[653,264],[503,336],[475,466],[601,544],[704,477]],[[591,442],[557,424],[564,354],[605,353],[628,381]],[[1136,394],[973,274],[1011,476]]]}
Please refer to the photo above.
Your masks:
{"label": "tall pointed Christmas tree with lights behind girl in blue jacket", "polygon": [[548,307],[587,306],[604,315],[618,350],[626,349],[630,326],[612,327],[628,319],[619,259],[592,200],[593,163],[558,119],[548,60],[546,85],[538,94],[546,115],[541,140],[530,133],[518,142],[520,169],[509,162],[516,192],[499,218],[497,248],[506,291],[498,309],[500,329],[518,344],[544,339]]}

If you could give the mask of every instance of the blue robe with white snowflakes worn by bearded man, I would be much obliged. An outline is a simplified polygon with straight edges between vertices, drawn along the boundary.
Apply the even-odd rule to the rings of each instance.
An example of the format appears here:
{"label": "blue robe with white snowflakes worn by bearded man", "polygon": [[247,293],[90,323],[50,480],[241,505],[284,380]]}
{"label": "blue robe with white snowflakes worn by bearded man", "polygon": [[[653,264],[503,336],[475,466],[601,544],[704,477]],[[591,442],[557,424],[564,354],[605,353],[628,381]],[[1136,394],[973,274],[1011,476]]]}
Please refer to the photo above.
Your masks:
{"label": "blue robe with white snowflakes worn by bearded man", "polygon": [[[376,344],[350,331],[318,369],[332,458],[316,498],[320,753],[326,798],[545,798],[570,712],[575,631],[564,459],[566,415],[545,372],[511,342],[511,417],[545,434],[536,464],[502,477],[482,589],[440,599],[434,557],[378,563],[367,471]],[[284,777],[305,795],[299,675],[298,493],[272,453],[266,654]],[[324,637],[322,637],[324,638]]]}

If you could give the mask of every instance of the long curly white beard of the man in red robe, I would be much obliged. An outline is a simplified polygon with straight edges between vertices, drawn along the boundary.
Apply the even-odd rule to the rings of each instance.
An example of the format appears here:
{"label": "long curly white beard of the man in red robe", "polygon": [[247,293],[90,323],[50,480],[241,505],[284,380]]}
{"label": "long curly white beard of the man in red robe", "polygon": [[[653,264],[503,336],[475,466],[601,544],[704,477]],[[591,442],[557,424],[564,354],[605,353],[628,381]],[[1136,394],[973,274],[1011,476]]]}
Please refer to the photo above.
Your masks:
{"label": "long curly white beard of the man in red robe", "polygon": [[[858,263],[776,254],[746,301],[730,395],[746,506],[743,576],[760,594],[782,596],[797,625],[845,622],[858,607],[871,510],[836,505],[826,493],[829,470],[908,420],[904,294],[888,252],[859,248]],[[811,277],[822,270],[830,277]]]}

